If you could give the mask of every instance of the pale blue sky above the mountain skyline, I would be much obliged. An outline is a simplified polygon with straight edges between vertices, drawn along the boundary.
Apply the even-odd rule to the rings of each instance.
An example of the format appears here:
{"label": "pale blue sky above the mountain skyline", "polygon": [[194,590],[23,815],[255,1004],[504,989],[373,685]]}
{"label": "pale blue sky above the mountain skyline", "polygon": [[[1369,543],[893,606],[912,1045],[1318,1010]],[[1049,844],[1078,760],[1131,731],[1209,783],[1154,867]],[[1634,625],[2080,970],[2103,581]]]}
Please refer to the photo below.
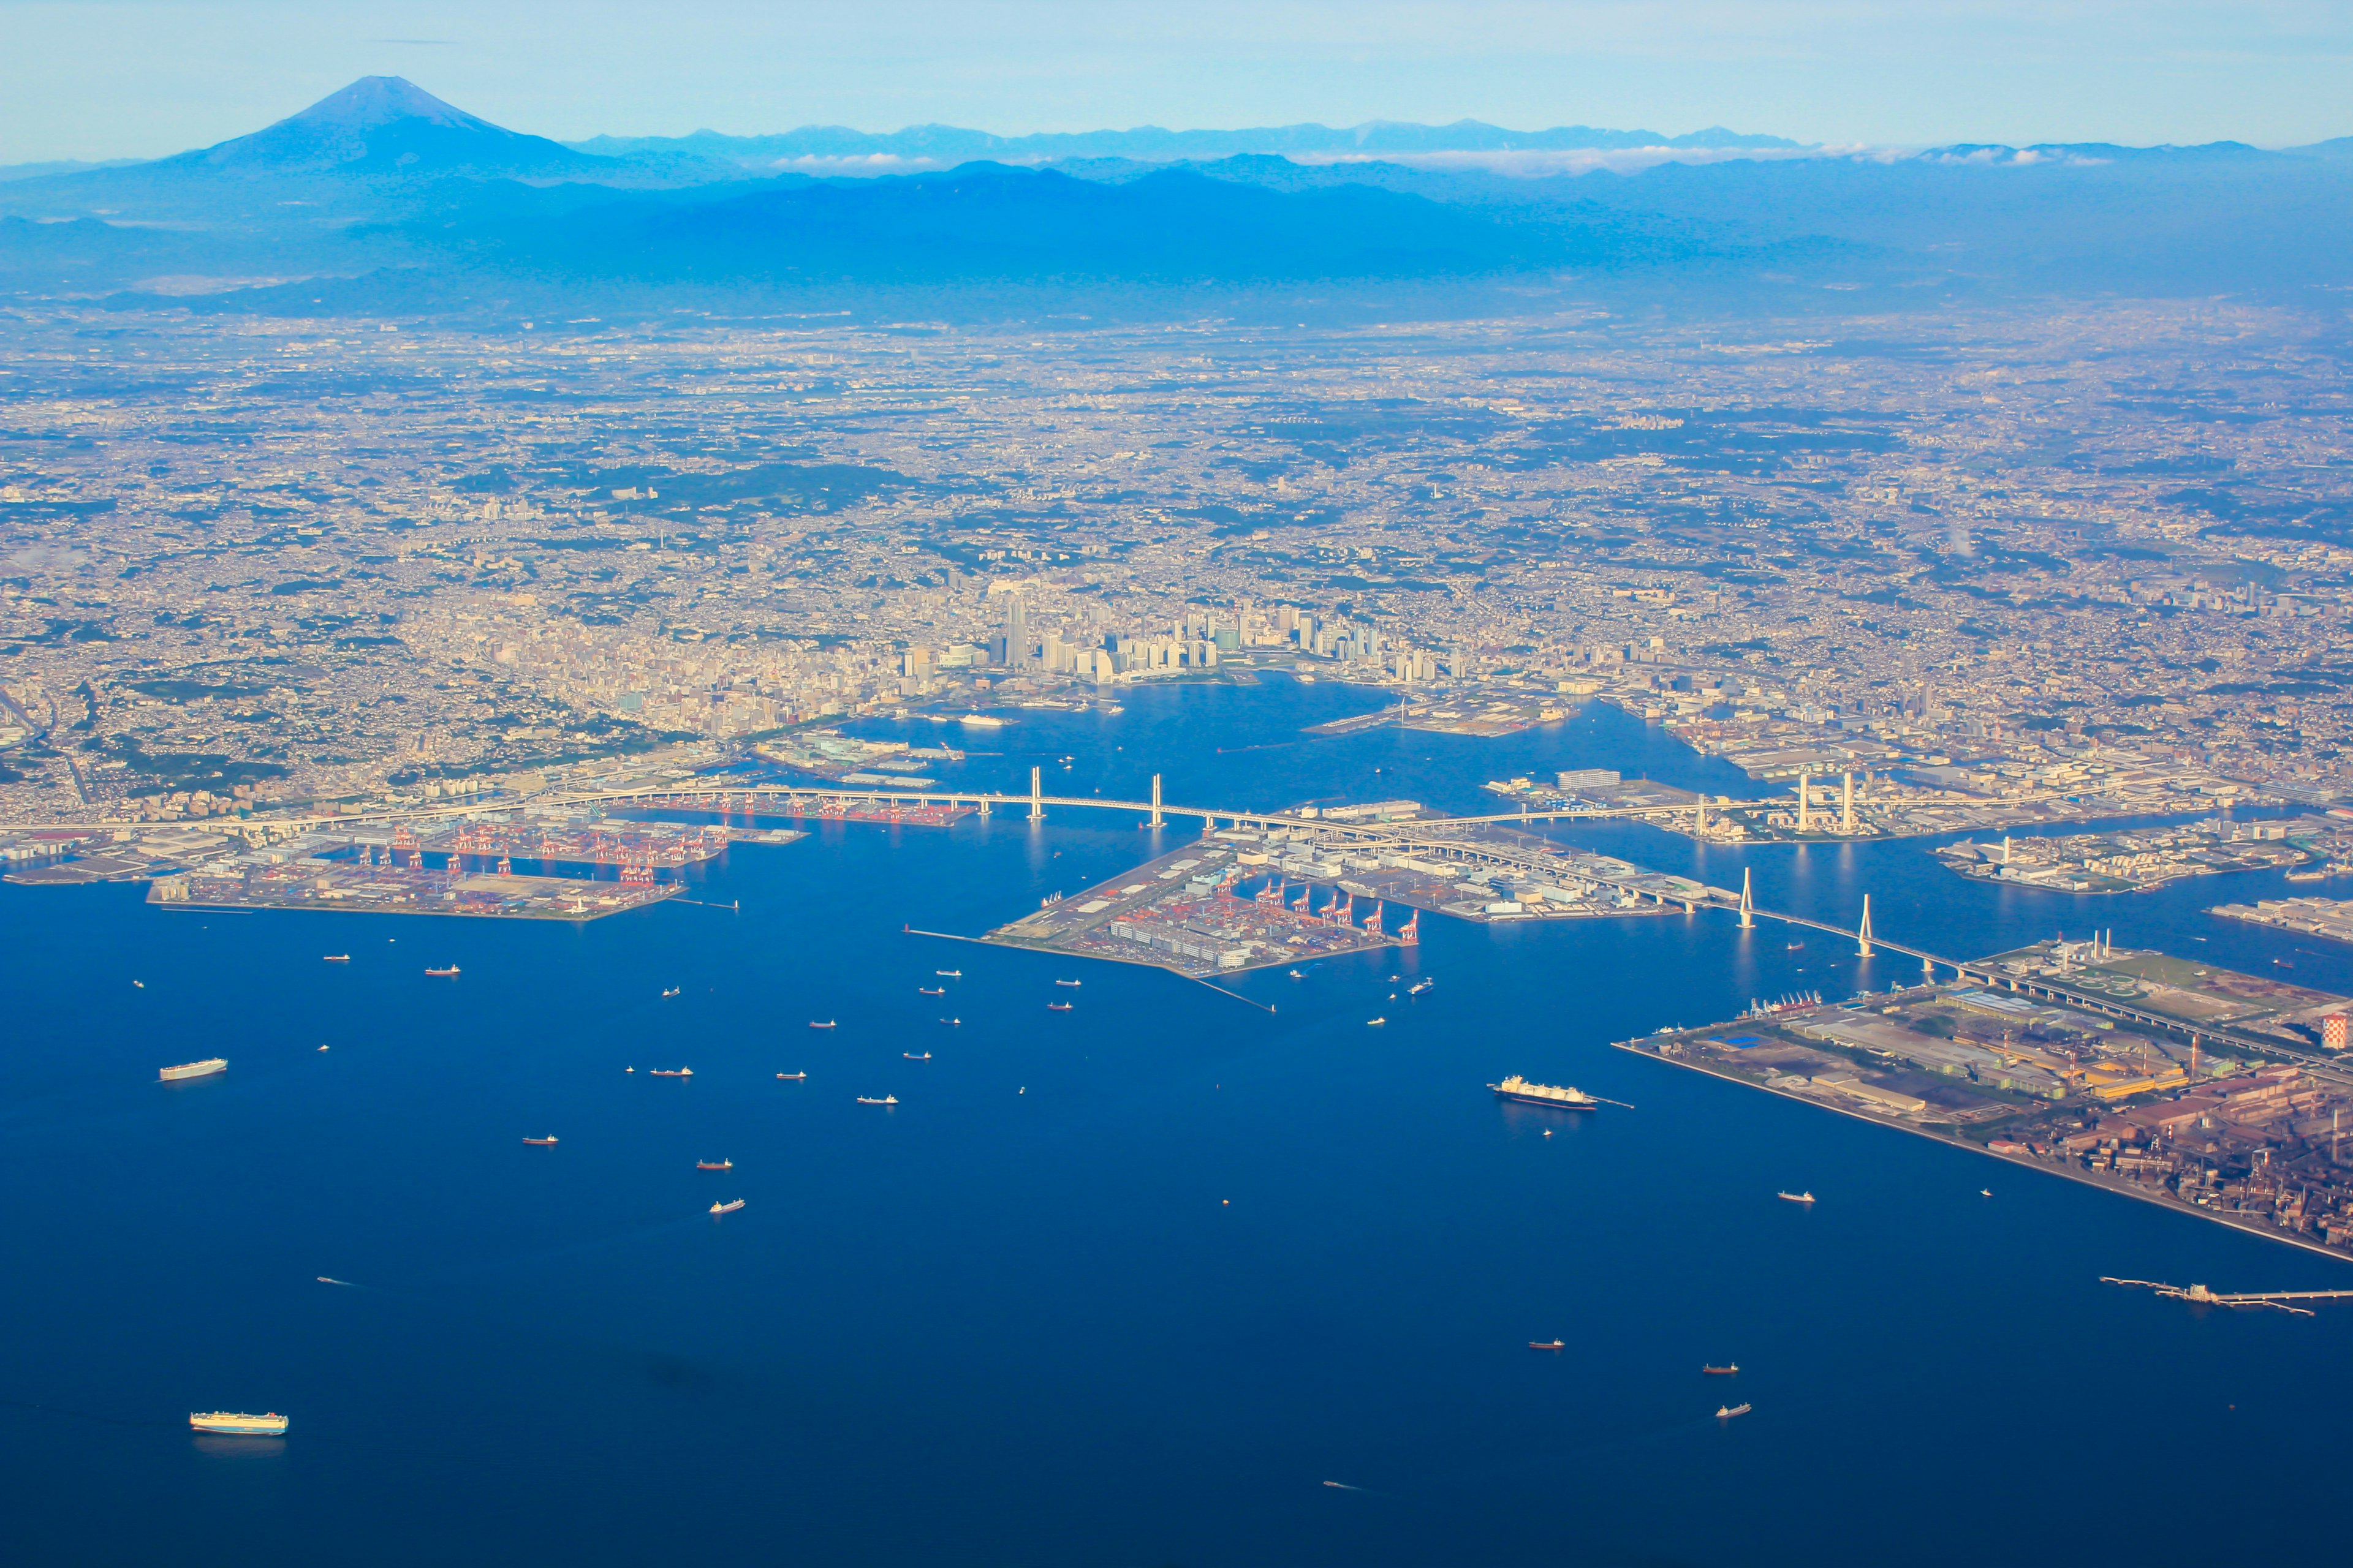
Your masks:
{"label": "pale blue sky above the mountain skyline", "polygon": [[1802,141],[2353,134],[2353,0],[0,0],[0,162],[407,75],[551,136],[1457,120]]}

